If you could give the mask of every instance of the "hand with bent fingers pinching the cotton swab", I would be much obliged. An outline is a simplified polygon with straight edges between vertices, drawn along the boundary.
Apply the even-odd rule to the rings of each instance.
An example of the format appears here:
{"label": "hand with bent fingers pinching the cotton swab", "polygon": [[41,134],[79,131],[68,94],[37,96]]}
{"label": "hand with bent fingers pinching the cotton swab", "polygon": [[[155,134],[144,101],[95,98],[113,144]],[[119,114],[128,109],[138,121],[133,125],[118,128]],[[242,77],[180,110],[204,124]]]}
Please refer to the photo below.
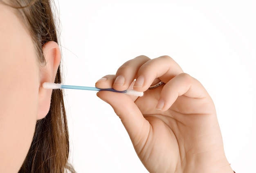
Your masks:
{"label": "hand with bent fingers pinching the cotton swab", "polygon": [[[165,84],[148,90],[160,80]],[[171,57],[136,57],[96,87],[144,92],[142,97],[107,91],[97,96],[120,117],[150,173],[233,173],[211,97]]]}

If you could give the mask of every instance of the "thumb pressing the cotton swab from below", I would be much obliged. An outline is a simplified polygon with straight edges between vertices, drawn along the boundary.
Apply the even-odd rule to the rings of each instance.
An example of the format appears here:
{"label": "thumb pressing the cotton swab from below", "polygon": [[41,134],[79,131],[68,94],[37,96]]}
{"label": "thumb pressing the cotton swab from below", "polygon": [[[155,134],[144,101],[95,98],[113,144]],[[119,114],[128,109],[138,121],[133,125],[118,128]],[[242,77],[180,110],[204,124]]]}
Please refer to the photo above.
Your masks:
{"label": "thumb pressing the cotton swab from below", "polygon": [[126,128],[134,147],[139,147],[137,145],[143,141],[146,142],[150,125],[130,96],[109,91],[97,92],[97,96],[112,106]]}

